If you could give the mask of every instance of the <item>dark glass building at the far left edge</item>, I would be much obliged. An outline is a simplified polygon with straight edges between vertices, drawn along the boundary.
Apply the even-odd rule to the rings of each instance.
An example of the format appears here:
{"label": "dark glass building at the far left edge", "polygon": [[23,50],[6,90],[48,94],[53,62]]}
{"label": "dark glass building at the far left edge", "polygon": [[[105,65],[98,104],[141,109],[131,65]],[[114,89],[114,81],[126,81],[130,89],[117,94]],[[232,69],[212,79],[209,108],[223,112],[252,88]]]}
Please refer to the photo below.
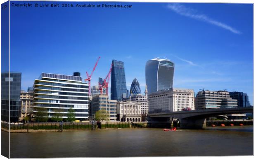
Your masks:
{"label": "dark glass building at the far left edge", "polygon": [[1,73],[1,120],[18,122],[21,114],[21,72]]}

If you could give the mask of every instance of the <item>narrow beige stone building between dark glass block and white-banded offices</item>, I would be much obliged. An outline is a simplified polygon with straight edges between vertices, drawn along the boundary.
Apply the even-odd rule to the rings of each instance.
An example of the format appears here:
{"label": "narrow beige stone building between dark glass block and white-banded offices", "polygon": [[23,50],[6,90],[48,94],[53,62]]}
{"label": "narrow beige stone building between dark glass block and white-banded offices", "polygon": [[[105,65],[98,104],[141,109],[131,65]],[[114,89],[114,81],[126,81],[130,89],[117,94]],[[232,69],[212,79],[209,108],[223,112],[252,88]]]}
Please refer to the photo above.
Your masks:
{"label": "narrow beige stone building between dark glass block and white-banded offices", "polygon": [[[28,89],[29,90],[29,89]],[[33,91],[23,91],[20,93],[21,99],[21,120],[26,116],[33,117]]]}

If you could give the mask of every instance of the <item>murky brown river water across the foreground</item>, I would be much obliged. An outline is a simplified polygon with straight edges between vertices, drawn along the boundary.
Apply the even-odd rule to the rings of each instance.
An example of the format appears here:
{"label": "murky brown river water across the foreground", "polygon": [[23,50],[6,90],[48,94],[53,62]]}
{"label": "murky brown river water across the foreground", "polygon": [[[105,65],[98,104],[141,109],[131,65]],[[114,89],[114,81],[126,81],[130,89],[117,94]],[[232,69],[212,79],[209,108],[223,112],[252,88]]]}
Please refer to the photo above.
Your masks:
{"label": "murky brown river water across the foreground", "polygon": [[245,156],[253,155],[253,126],[11,133],[10,143],[11,158]]}

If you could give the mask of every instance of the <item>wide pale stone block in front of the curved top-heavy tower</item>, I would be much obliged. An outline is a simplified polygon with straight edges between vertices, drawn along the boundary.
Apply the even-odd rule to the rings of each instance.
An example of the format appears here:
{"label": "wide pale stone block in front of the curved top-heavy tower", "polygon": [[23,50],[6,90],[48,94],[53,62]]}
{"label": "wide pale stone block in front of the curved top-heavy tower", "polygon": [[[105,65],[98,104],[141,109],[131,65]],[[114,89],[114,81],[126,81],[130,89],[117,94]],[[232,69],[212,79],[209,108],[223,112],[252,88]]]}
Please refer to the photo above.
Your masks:
{"label": "wide pale stone block in front of the curved top-heavy tower", "polygon": [[194,91],[192,89],[165,89],[149,94],[149,113],[176,112],[183,108],[194,110]]}

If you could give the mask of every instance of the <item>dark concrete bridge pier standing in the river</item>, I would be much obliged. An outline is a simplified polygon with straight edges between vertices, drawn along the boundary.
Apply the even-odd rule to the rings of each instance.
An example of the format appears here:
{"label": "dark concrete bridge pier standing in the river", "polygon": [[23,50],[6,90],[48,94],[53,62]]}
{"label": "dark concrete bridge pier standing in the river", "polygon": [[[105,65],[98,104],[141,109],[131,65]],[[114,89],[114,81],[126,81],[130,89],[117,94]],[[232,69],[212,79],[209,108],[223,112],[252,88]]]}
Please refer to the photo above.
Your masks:
{"label": "dark concrete bridge pier standing in the river", "polygon": [[206,118],[184,118],[180,119],[181,129],[205,129]]}

